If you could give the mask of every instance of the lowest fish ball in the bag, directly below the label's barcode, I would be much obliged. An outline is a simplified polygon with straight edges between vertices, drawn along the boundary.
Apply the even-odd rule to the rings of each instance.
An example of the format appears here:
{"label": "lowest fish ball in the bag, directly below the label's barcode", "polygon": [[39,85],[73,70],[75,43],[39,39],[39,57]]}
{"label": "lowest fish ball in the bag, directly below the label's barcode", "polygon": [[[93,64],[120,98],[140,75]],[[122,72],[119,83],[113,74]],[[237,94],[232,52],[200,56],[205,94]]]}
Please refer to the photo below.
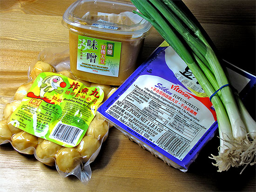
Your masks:
{"label": "lowest fish ball in the bag, directly below the label's barcode", "polygon": [[81,164],[82,158],[76,148],[63,147],[55,155],[56,164],[62,172],[71,172],[76,166]]}

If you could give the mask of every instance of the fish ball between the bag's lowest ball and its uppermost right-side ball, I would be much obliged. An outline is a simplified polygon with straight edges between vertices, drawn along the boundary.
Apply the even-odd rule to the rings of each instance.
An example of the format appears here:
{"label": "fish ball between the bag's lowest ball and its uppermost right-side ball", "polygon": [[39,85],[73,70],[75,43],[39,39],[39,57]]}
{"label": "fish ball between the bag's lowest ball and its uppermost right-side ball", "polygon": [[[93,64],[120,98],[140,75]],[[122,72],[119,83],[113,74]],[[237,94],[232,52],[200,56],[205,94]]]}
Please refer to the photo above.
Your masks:
{"label": "fish ball between the bag's lowest ball and its uppermost right-side ball", "polygon": [[83,161],[87,162],[95,151],[101,146],[101,142],[93,136],[86,135],[77,146]]}

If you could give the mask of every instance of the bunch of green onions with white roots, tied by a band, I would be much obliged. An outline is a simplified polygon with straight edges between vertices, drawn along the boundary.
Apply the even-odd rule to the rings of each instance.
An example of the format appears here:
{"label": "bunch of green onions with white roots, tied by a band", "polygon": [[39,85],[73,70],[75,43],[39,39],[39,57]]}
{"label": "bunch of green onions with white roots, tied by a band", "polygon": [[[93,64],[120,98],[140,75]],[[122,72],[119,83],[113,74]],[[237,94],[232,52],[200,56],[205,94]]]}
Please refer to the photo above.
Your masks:
{"label": "bunch of green onions with white roots, tied by a band", "polygon": [[[229,84],[213,48],[202,33],[202,27],[188,17],[181,0],[131,1],[140,11],[134,13],[155,27],[189,66],[208,96]],[[227,171],[230,166],[245,168],[256,164],[256,122],[242,101],[232,93],[230,86],[224,86],[211,102],[216,111],[220,136],[219,154],[212,155],[218,172]]]}

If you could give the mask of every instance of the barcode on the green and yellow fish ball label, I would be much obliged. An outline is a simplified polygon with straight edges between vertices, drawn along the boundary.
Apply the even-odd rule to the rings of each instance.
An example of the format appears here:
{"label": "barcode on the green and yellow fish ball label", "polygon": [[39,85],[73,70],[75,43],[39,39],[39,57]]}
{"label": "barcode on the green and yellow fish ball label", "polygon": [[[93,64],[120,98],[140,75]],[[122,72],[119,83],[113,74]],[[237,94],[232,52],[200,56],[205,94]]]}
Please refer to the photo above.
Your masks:
{"label": "barcode on the green and yellow fish ball label", "polygon": [[58,123],[49,135],[49,138],[75,146],[82,132],[83,130],[78,127]]}

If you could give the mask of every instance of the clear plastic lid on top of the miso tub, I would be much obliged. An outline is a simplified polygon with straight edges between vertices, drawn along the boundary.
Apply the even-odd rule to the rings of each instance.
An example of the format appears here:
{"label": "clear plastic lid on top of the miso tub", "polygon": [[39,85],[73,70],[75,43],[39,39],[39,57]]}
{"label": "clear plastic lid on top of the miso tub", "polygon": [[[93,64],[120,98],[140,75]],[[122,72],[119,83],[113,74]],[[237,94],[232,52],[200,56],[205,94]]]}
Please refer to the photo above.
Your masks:
{"label": "clear plastic lid on top of the miso tub", "polygon": [[132,13],[137,8],[127,1],[78,0],[67,8],[62,24],[69,30],[78,28],[104,33],[132,35],[132,38],[147,36],[151,24]]}

